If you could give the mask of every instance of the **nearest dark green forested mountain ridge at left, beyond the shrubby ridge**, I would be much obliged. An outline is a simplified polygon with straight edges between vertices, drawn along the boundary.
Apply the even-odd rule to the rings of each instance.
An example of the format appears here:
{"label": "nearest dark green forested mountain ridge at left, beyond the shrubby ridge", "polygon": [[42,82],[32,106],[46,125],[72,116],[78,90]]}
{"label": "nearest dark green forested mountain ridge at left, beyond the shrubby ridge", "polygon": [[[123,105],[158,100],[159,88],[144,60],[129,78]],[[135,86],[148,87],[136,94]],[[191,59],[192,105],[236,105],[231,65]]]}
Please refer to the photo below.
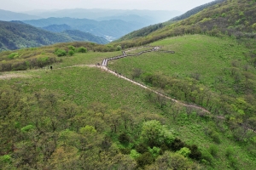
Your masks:
{"label": "nearest dark green forested mountain ridge at left, beyond the shrubby ridge", "polygon": [[39,47],[56,42],[88,41],[107,43],[108,40],[83,31],[55,33],[29,26],[20,21],[0,21],[0,51],[17,48]]}

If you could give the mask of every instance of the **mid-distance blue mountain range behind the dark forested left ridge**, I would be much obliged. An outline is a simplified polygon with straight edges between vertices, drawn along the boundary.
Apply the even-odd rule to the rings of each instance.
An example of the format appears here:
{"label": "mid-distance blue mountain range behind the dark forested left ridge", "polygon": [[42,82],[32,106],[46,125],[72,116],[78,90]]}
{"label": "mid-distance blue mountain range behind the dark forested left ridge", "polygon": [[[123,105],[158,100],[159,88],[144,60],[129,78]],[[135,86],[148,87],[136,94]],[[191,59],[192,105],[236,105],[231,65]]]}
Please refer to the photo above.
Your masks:
{"label": "mid-distance blue mountain range behind the dark forested left ridge", "polygon": [[88,20],[73,18],[48,18],[40,20],[23,20],[31,26],[43,28],[47,31],[61,32],[64,30],[79,30],[90,32],[100,37],[119,38],[125,34],[142,28],[146,24],[139,21],[125,22],[124,20]]}

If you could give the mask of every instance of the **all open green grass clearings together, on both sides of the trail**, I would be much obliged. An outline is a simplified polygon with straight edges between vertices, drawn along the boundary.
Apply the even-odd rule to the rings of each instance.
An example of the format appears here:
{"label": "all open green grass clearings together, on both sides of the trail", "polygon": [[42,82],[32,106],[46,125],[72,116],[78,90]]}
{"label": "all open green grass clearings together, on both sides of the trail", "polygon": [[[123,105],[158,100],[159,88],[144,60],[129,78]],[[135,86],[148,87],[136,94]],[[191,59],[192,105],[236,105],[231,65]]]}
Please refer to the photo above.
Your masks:
{"label": "all open green grass clearings together, on both sides of the trail", "polygon": [[[207,44],[208,48],[205,48],[205,51],[202,53],[201,46],[196,45],[195,42],[203,42],[204,45]],[[234,45],[234,48],[227,46],[227,44],[230,43]],[[226,44],[226,46],[223,46],[223,44]],[[172,76],[175,72],[178,74],[180,74],[179,72],[183,72],[183,74],[181,73],[180,75],[185,77],[190,71],[194,71],[196,68],[201,68],[198,71],[203,71],[211,67],[212,63],[218,63],[212,65],[212,68],[209,68],[210,71],[202,72],[202,74],[204,74],[202,82],[210,83],[213,81],[212,77],[217,74],[213,72],[214,68],[218,70],[221,69],[222,66],[229,66],[230,59],[232,59],[230,58],[231,56],[235,56],[236,54],[236,59],[239,59],[242,56],[240,55],[240,50],[244,50],[245,52],[247,50],[229,39],[219,41],[218,38],[206,36],[175,37],[160,42],[154,42],[154,45],[161,45],[163,49],[175,50],[176,54],[143,54],[139,57],[116,60],[111,67],[115,68],[114,66],[116,66],[116,68],[124,74],[129,74],[132,68],[142,66],[142,68],[147,71],[162,71],[167,76]],[[202,48],[204,48],[204,45],[202,45]],[[229,48],[227,54],[223,54],[223,52],[226,51],[225,48]],[[192,53],[192,51],[194,52]],[[114,56],[118,53],[119,52],[103,54],[90,52],[88,54],[75,54],[73,57],[63,58],[63,63],[54,65],[54,68],[78,64],[93,65],[102,58]],[[218,57],[209,60],[211,56],[219,53],[223,54],[223,58]],[[205,56],[208,57],[204,58]],[[197,65],[199,62],[195,61],[186,64],[189,59],[203,59],[202,61],[208,62],[208,65],[201,65],[199,67]],[[154,65],[155,63],[157,63],[157,65]],[[166,65],[166,63],[171,66]],[[183,66],[183,64],[185,66]],[[33,78],[1,80],[0,84],[3,85],[7,83],[17,85],[18,83],[27,93],[46,89],[54,90],[62,94],[62,99],[72,100],[74,103],[82,106],[90,105],[93,101],[99,101],[107,104],[111,109],[117,109],[124,105],[128,106],[134,114],[141,112],[163,114],[162,110],[148,101],[146,98],[147,92],[145,90],[131,84],[131,82],[125,82],[125,80],[114,77],[108,72],[96,68],[73,67],[54,71],[38,70],[20,72],[21,74]],[[166,123],[177,132],[177,137],[185,140],[189,144],[198,144],[203,150],[208,150],[209,145],[215,144],[212,139],[204,133],[206,127],[214,127],[211,122],[204,121],[197,116],[191,116],[189,118],[179,116],[177,117],[177,121],[173,121],[171,117],[168,117]],[[255,160],[247,154],[246,149],[242,145],[237,145],[232,142],[232,140],[228,139],[227,136],[222,136],[221,144],[217,144],[218,156],[214,158],[213,168],[227,169],[227,167],[230,167],[229,161],[227,161],[224,156],[224,150],[232,146],[237,153],[236,160],[239,160],[239,169],[253,169],[253,167],[256,166]],[[206,168],[211,169],[212,167],[207,166]]]}

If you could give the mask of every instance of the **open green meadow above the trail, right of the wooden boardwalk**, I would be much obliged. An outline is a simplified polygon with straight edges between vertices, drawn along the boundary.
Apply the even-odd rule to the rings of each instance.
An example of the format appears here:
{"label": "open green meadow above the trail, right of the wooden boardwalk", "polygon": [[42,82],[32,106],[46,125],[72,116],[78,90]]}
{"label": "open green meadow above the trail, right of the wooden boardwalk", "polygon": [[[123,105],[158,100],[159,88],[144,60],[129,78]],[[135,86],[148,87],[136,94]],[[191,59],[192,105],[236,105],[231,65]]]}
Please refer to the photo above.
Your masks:
{"label": "open green meadow above the trail, right of the wooden boardwalk", "polygon": [[[200,82],[212,87],[216,78],[223,76],[224,70],[232,67],[232,62],[247,65],[245,54],[250,51],[230,38],[201,35],[172,37],[150,45],[161,46],[160,50],[175,51],[175,54],[154,52],[127,57],[109,62],[109,68],[128,77],[131,77],[134,69],[180,78],[198,74]],[[249,71],[255,72],[253,66],[250,66]],[[224,78],[226,85],[231,87],[233,80]]]}

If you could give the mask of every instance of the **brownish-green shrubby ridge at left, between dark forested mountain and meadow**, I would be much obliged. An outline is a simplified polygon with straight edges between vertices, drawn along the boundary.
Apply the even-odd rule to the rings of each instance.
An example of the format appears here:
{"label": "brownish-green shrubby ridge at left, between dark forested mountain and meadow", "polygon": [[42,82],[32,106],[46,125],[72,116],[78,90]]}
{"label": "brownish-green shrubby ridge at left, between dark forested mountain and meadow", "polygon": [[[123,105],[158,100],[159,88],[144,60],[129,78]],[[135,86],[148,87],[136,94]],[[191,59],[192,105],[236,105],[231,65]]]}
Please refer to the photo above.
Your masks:
{"label": "brownish-green shrubby ridge at left, between dark forested mountain and meadow", "polygon": [[[66,42],[40,48],[23,48],[15,51],[5,51],[0,53],[0,72],[43,68],[44,66],[61,63],[64,56],[84,54],[88,51],[89,53],[93,53],[119,50],[119,46],[104,46],[93,42]],[[79,59],[76,61],[76,65],[82,64],[83,58]],[[72,61],[71,63],[73,64]],[[70,63],[67,62],[67,64]]]}

